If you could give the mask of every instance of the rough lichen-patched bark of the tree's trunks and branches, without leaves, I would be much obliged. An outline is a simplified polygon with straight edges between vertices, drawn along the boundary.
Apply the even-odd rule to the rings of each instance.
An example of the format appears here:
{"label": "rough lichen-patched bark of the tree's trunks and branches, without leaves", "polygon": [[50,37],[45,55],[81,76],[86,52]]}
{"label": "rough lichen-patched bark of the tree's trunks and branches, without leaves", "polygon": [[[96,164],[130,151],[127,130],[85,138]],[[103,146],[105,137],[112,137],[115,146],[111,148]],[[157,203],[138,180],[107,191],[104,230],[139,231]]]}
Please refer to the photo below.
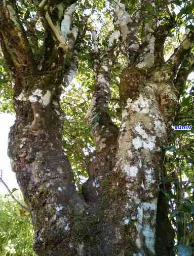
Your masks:
{"label": "rough lichen-patched bark of the tree's trunks and branches, without leaves", "polygon": [[[9,156],[30,209],[34,250],[52,256],[170,255],[173,232],[167,237],[168,202],[159,194],[162,146],[178,112],[178,88],[189,73],[185,56],[190,54],[193,33],[165,63],[164,42],[174,20],[165,27],[154,20],[146,24],[141,9],[130,16],[120,1],[114,4],[120,32],[110,36],[105,52],[99,50],[93,32],[95,88],[87,121],[96,152],[80,195],[61,144],[59,105],[61,84],[66,86],[77,69],[76,43],[82,35],[76,27],[69,27],[67,33],[60,26],[63,16],[72,18],[74,2],[56,5],[53,1],[53,9],[45,1],[40,3],[47,36],[45,52],[37,59],[37,44],[30,44],[16,5],[0,1],[1,47],[15,79],[16,122],[9,135]],[[52,13],[57,8],[58,16]],[[137,37],[140,21],[142,44]],[[109,116],[108,103],[120,33],[129,66],[121,75],[119,129]]]}

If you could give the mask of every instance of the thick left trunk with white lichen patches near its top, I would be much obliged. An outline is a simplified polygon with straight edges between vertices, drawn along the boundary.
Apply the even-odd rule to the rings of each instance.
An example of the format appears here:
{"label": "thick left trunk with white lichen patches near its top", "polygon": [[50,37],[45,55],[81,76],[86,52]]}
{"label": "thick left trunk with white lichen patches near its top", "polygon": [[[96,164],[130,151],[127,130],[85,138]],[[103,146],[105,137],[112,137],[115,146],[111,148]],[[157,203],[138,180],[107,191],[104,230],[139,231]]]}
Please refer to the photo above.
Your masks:
{"label": "thick left trunk with white lichen patches near its top", "polygon": [[15,84],[9,156],[30,209],[38,255],[76,255],[69,234],[73,218],[84,210],[61,146],[60,73],[34,74]]}

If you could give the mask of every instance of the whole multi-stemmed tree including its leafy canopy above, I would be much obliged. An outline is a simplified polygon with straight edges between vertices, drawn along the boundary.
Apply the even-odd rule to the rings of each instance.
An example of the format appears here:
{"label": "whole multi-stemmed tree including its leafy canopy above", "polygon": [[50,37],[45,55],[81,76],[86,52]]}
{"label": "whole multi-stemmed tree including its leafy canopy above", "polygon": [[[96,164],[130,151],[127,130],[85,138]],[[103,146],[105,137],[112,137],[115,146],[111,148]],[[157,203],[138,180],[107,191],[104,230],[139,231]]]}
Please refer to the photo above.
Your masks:
{"label": "whole multi-stemmed tree including its leafy canopy above", "polygon": [[[37,255],[173,254],[169,205],[159,191],[166,175],[163,149],[193,70],[193,3],[0,4],[16,112],[8,152],[30,209]],[[79,168],[88,172],[82,189],[76,189],[63,147],[71,130],[62,108],[71,102],[64,96],[60,104],[78,65],[78,80],[93,87],[86,118],[95,145],[92,152],[86,139],[90,154],[75,161],[83,157]]]}

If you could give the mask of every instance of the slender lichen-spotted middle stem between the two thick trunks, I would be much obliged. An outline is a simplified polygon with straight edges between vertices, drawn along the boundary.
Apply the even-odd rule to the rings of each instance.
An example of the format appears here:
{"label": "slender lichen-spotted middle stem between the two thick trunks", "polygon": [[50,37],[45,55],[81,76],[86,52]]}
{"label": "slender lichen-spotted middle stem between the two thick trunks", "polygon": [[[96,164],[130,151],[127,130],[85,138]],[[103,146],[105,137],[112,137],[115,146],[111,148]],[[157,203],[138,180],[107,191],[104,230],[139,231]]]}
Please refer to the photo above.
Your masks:
{"label": "slender lichen-spotted middle stem between the two thick trunks", "polygon": [[114,46],[102,56],[99,53],[97,37],[93,32],[94,53],[94,74],[95,88],[86,119],[91,127],[92,136],[95,140],[97,152],[103,149],[108,150],[117,143],[119,130],[115,126],[108,113],[108,103],[110,101],[110,70],[113,65]]}

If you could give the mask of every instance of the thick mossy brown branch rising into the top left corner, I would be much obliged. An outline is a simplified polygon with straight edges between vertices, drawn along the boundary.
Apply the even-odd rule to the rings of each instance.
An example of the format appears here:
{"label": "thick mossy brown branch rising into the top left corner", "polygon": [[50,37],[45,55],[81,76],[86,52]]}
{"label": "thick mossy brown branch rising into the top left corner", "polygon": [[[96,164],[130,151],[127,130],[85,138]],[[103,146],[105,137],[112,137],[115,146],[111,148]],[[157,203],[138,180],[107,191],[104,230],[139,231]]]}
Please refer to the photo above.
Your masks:
{"label": "thick mossy brown branch rising into the top left corner", "polygon": [[17,71],[29,74],[33,70],[33,54],[19,20],[17,6],[5,0],[1,0],[0,5],[0,36],[5,45],[3,50],[9,52],[9,58]]}

